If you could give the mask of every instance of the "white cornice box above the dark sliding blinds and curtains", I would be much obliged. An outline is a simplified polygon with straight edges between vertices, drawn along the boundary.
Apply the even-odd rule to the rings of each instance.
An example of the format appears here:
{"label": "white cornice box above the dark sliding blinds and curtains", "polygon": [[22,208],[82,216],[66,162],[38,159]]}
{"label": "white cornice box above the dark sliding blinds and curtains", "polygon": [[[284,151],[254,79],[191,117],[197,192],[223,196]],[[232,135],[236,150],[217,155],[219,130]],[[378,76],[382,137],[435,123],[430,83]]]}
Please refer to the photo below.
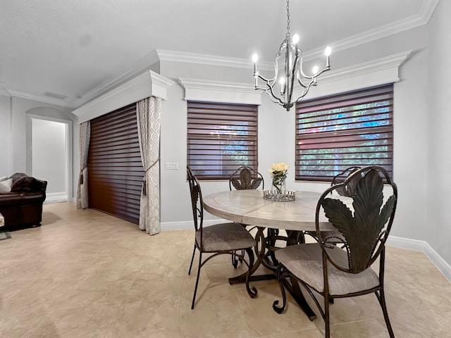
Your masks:
{"label": "white cornice box above the dark sliding blinds and curtains", "polygon": [[147,70],[132,80],[97,97],[97,99],[75,109],[73,113],[78,116],[78,123],[82,123],[149,96],[166,100],[166,89],[174,83],[172,80],[152,72],[152,70]]}

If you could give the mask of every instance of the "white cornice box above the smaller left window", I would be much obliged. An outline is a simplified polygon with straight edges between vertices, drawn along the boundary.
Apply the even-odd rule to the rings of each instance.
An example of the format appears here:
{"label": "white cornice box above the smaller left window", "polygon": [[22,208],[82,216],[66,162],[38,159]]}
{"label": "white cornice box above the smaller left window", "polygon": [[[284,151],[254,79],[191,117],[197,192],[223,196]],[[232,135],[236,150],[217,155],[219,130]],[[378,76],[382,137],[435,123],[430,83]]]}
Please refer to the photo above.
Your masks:
{"label": "white cornice box above the smaller left window", "polygon": [[178,82],[185,88],[186,101],[261,104],[261,91],[255,90],[254,84],[187,77],[179,77]]}

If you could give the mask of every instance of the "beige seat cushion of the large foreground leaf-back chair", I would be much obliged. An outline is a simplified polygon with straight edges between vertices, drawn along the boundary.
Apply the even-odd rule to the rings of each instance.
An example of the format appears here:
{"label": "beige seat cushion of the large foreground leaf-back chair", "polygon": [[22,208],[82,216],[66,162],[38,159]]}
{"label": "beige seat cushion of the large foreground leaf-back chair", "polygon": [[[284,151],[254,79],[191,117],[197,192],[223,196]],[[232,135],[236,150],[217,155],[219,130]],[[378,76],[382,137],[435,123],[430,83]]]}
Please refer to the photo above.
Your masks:
{"label": "beige seat cushion of the large foreground leaf-back chair", "polygon": [[[347,266],[347,253],[335,246],[326,249],[336,263]],[[277,260],[285,265],[299,280],[319,292],[323,292],[323,258],[321,246],[314,244],[297,244],[276,251]],[[378,275],[368,268],[362,273],[345,273],[328,263],[329,294],[333,296],[351,294],[379,285]]]}

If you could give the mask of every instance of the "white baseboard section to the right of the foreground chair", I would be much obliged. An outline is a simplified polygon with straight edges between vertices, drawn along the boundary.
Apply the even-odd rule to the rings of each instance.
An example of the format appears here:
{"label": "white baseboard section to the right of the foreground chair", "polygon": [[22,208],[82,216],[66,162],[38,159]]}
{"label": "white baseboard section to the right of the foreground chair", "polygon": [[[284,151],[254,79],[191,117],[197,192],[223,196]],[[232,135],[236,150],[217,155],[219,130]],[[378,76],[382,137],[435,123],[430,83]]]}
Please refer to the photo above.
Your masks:
{"label": "white baseboard section to the right of the foreground chair", "polygon": [[419,241],[417,239],[388,236],[387,245],[424,252],[431,262],[438,268],[440,273],[443,273],[445,278],[451,282],[451,265],[448,264],[437,253],[437,251],[435,251],[433,247],[428,244],[428,242]]}

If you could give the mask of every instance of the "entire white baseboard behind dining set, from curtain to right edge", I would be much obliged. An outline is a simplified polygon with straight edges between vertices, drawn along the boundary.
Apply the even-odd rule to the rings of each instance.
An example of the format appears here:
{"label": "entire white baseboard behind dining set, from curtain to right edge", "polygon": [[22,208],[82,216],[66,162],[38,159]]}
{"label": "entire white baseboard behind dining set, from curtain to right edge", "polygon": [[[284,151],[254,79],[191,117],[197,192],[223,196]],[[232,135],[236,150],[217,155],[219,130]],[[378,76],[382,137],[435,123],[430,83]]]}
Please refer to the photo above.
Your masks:
{"label": "entire white baseboard behind dining set, from curtain to right edge", "polygon": [[[227,220],[204,220],[204,225],[213,225],[215,223],[228,222]],[[192,222],[163,222],[161,223],[161,231],[165,230],[190,230],[193,228]],[[387,245],[396,246],[397,248],[421,251],[428,256],[431,262],[438,268],[447,280],[451,282],[451,265],[448,264],[432,246],[426,241],[417,239],[408,239],[404,237],[388,236]]]}

